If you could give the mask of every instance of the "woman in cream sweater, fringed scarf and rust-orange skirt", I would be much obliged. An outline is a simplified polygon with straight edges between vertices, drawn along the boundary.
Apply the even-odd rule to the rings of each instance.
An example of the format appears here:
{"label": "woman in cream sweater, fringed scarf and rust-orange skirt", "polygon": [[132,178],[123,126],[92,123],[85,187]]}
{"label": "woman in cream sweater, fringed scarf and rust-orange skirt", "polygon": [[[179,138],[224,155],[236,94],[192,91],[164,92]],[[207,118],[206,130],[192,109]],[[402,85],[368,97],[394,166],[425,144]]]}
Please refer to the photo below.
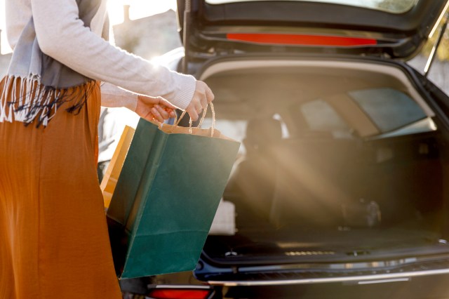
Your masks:
{"label": "woman in cream sweater, fringed scarf and rust-orange skirt", "polygon": [[159,121],[175,107],[196,120],[213,94],[105,41],[105,0],[6,0],[6,22],[0,298],[121,298],[95,171],[100,93]]}

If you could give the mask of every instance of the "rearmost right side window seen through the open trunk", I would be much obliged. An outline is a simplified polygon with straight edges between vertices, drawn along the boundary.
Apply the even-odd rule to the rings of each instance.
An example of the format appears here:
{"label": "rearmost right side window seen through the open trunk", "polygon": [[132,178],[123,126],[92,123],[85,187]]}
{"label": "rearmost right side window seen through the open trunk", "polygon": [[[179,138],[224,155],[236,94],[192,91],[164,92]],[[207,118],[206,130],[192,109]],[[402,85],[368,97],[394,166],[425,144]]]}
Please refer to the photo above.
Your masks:
{"label": "rearmost right side window seen through the open trunk", "polygon": [[351,91],[349,96],[360,105],[382,133],[427,117],[417,102],[392,88]]}

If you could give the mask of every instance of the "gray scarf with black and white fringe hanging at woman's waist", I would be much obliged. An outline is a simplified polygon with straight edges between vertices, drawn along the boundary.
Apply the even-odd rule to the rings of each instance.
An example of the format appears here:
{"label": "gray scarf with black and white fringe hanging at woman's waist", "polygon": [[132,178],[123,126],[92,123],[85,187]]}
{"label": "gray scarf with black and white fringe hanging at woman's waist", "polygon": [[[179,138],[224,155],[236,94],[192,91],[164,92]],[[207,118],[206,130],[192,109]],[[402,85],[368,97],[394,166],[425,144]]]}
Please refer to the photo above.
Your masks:
{"label": "gray scarf with black and white fringe hanging at woman's waist", "polygon": [[[86,27],[100,7],[101,0],[76,0],[79,18]],[[57,38],[57,36],[55,36]],[[47,126],[60,105],[78,114],[91,93],[93,80],[42,53],[36,39],[33,18],[22,31],[11,58],[4,86],[0,90],[0,122],[36,122]]]}

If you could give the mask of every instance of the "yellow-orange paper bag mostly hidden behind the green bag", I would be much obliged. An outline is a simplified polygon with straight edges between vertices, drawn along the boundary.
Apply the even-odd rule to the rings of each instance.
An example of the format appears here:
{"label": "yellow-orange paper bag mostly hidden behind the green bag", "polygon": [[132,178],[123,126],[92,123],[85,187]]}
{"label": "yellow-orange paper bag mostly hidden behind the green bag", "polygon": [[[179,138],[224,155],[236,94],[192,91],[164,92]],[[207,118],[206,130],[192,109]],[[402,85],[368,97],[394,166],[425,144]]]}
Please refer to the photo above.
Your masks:
{"label": "yellow-orange paper bag mostly hidden behind the green bag", "polygon": [[119,175],[123,163],[125,161],[126,154],[133,140],[134,129],[130,126],[125,126],[123,133],[121,133],[119,144],[117,145],[112,159],[106,168],[105,176],[101,181],[101,191],[103,193],[103,200],[105,201],[105,208],[109,208],[111,203],[112,194],[114,194],[115,187],[117,185],[117,180],[119,180]]}

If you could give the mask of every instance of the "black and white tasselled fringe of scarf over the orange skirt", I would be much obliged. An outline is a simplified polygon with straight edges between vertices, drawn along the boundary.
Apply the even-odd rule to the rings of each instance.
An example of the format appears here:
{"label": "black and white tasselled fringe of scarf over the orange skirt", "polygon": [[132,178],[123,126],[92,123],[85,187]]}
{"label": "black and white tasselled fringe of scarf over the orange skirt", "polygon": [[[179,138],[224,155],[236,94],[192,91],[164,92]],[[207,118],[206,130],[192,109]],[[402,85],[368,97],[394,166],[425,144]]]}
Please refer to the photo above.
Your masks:
{"label": "black and white tasselled fringe of scarf over the orange skirt", "polygon": [[28,126],[35,122],[36,128],[45,127],[65,103],[70,105],[67,112],[79,114],[93,92],[94,82],[55,89],[43,86],[35,77],[6,76],[0,91],[0,123],[20,121]]}

